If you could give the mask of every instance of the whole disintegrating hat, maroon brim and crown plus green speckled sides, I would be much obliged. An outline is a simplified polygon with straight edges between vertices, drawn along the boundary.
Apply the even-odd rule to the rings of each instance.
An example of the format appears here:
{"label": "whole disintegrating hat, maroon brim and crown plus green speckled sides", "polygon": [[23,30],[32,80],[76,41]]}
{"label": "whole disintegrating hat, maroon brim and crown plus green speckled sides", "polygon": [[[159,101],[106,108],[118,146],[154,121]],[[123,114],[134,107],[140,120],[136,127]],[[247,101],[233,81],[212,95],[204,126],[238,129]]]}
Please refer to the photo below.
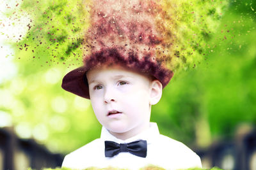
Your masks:
{"label": "whole disintegrating hat, maroon brim and crown plus green speckled sides", "polygon": [[205,59],[226,5],[227,0],[24,0],[13,13],[25,11],[31,20],[15,46],[28,52],[21,57],[49,65],[81,65],[83,58],[62,87],[88,99],[85,73],[102,65],[151,74],[165,87],[174,72]]}

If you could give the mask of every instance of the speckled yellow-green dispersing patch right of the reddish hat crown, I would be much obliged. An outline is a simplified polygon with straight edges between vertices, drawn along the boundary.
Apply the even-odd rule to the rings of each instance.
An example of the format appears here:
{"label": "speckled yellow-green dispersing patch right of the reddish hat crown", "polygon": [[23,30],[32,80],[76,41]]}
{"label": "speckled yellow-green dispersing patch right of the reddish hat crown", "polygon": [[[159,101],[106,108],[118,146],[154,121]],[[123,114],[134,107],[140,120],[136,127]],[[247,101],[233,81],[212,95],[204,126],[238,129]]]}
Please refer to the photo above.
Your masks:
{"label": "speckled yellow-green dispersing patch right of the reddish hat crown", "polygon": [[170,68],[179,72],[204,59],[207,43],[220,25],[228,1],[162,1],[166,11],[164,22],[170,39]]}

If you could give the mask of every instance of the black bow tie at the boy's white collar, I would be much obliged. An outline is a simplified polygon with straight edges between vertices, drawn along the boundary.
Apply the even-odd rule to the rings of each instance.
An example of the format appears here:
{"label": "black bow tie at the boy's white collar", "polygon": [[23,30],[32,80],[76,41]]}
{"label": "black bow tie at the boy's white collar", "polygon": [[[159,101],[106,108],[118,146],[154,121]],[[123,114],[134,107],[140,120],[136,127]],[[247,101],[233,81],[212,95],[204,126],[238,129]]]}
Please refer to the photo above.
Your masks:
{"label": "black bow tie at the boy's white collar", "polygon": [[120,152],[129,152],[138,157],[147,157],[147,141],[134,141],[131,143],[115,143],[105,141],[105,157],[113,157]]}

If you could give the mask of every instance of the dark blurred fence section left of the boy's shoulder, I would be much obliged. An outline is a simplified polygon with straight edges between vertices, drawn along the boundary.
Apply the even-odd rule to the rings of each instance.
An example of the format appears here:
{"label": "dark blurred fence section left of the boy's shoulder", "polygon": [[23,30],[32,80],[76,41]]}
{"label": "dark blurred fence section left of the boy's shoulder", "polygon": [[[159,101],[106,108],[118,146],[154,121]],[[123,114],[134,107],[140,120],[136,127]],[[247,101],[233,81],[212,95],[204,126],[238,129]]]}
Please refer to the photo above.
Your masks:
{"label": "dark blurred fence section left of the boy's shoulder", "polygon": [[19,139],[12,129],[0,129],[0,170],[55,168],[62,161],[63,155],[49,152],[33,139]]}

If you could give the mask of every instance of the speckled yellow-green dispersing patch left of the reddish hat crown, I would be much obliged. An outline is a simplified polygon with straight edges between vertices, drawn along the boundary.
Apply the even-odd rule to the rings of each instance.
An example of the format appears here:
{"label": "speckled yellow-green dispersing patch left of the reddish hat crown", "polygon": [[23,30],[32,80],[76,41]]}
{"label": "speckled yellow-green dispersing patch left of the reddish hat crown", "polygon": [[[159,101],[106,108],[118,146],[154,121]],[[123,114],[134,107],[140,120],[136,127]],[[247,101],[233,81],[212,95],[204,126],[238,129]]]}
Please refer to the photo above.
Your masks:
{"label": "speckled yellow-green dispersing patch left of the reddish hat crown", "polygon": [[[80,64],[88,10],[83,1],[28,1],[17,9],[30,18],[28,32],[17,45],[19,58],[48,64]],[[23,53],[20,53],[19,50]],[[24,55],[26,53],[26,55]]]}

